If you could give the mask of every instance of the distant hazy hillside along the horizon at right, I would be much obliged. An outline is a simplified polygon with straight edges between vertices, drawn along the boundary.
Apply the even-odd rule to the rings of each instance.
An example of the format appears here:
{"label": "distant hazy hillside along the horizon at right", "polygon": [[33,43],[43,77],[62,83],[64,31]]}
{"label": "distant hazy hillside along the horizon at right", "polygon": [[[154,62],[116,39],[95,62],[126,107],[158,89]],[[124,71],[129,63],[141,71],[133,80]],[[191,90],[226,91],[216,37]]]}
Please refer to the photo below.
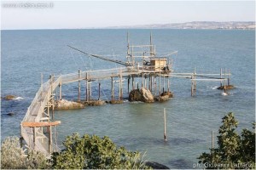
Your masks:
{"label": "distant hazy hillside along the horizon at right", "polygon": [[213,22],[213,21],[194,21],[173,24],[151,24],[140,26],[111,26],[108,28],[142,28],[142,29],[224,29],[224,30],[254,30],[255,22]]}

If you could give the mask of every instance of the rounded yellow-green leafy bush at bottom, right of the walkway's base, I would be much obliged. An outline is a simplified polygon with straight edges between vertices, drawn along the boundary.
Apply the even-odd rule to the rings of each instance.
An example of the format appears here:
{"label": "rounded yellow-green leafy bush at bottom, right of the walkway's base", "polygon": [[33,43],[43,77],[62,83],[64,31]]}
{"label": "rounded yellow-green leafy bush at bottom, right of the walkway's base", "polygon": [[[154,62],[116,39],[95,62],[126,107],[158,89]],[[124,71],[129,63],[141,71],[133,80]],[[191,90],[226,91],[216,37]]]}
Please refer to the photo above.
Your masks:
{"label": "rounded yellow-green leafy bush at bottom, right of the walkway's base", "polygon": [[67,136],[63,142],[65,149],[52,156],[53,167],[59,169],[134,169],[146,168],[138,152],[130,152],[124,147],[117,148],[108,137],[100,139],[96,135],[78,133]]}

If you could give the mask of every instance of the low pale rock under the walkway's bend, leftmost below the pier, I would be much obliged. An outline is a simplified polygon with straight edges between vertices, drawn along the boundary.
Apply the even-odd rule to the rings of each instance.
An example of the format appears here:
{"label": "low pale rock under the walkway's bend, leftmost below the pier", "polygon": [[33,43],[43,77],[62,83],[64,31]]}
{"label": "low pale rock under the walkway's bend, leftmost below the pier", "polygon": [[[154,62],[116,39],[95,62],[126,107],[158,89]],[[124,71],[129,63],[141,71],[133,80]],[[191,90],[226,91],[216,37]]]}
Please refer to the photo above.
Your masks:
{"label": "low pale rock under the walkway's bend, leftmost below the pier", "polygon": [[72,109],[84,109],[84,105],[74,101],[67,101],[61,99],[56,101],[55,110],[72,110]]}

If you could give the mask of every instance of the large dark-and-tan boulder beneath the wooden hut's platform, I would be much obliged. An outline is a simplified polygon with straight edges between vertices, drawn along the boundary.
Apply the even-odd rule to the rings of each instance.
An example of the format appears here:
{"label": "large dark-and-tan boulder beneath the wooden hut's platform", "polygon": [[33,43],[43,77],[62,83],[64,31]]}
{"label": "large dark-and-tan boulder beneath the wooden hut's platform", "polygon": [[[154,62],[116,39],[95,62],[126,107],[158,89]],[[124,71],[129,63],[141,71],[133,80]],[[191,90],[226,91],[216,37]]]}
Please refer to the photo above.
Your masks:
{"label": "large dark-and-tan boulder beneath the wooden hut's platform", "polygon": [[131,90],[129,94],[129,101],[142,101],[145,103],[153,103],[154,96],[146,88]]}

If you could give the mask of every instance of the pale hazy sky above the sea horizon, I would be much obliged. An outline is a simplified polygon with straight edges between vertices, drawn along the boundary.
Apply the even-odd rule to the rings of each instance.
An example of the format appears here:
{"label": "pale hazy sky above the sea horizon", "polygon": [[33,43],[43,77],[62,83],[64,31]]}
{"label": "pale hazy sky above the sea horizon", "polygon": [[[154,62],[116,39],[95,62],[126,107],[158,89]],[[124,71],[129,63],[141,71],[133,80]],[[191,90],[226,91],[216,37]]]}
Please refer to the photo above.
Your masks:
{"label": "pale hazy sky above the sea horizon", "polygon": [[[40,1],[49,7],[25,8],[24,5],[31,5],[27,2],[2,2],[1,29],[255,20],[254,1]],[[31,3],[36,5],[38,2]]]}

